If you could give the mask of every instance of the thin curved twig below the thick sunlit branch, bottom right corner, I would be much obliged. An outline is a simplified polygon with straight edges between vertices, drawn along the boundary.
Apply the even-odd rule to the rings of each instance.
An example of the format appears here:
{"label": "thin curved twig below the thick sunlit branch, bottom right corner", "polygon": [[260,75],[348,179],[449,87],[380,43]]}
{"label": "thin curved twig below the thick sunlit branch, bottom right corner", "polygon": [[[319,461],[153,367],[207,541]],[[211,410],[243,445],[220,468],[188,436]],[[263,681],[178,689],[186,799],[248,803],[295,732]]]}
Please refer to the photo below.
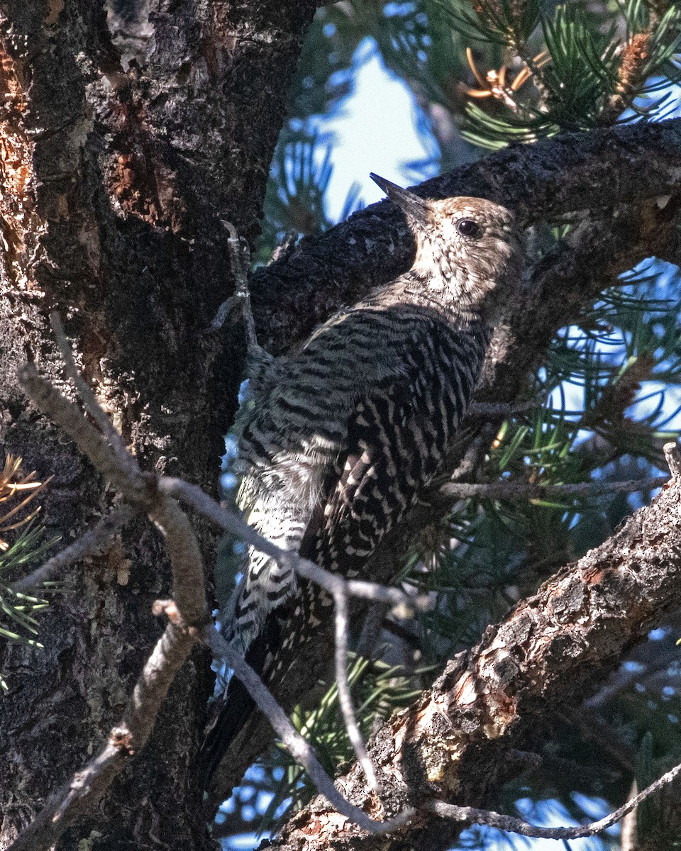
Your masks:
{"label": "thin curved twig below the thick sunlit branch, bottom right corner", "polygon": [[650,797],[654,792],[671,783],[674,778],[681,773],[681,763],[667,771],[667,774],[662,774],[655,783],[651,783],[644,791],[639,792],[636,797],[632,797],[629,801],[623,804],[614,813],[605,816],[604,819],[592,821],[590,825],[578,825],[577,827],[539,827],[537,825],[529,825],[522,819],[515,819],[511,815],[502,815],[490,810],[476,809],[473,807],[457,807],[452,803],[444,801],[427,801],[425,808],[431,813],[442,816],[444,819],[454,819],[456,821],[470,821],[475,825],[489,825],[496,827],[500,831],[510,831],[511,833],[519,833],[524,837],[535,837],[537,839],[580,839],[581,837],[593,837],[597,833],[606,830],[612,825],[615,825],[619,820],[624,818],[627,813],[638,807],[638,804],[643,802],[647,797]]}

